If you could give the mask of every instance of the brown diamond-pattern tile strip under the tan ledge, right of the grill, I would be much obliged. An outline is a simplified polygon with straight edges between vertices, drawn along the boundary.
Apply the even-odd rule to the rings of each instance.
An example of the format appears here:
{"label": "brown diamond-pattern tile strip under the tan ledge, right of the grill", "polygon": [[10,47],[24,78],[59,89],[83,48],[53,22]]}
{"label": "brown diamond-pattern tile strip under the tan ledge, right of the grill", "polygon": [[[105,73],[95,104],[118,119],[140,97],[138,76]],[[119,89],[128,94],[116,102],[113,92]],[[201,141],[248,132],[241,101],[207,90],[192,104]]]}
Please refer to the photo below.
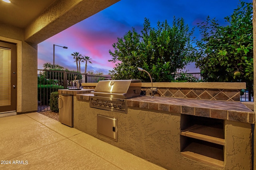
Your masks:
{"label": "brown diamond-pattern tile strip under the tan ledge, right of the grill", "polygon": [[[151,95],[151,88],[142,88],[142,95]],[[208,88],[158,88],[153,96],[204,100],[240,101],[240,90]]]}

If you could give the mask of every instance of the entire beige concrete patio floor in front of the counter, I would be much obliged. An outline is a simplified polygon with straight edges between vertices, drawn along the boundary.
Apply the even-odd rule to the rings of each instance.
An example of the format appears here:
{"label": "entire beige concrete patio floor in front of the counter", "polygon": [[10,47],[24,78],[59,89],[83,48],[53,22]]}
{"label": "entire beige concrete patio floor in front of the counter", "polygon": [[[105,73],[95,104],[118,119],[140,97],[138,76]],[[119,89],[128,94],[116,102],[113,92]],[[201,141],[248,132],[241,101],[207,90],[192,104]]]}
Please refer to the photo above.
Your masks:
{"label": "entire beige concrete patio floor in front of the counter", "polygon": [[36,112],[0,117],[0,135],[1,170],[164,169]]}

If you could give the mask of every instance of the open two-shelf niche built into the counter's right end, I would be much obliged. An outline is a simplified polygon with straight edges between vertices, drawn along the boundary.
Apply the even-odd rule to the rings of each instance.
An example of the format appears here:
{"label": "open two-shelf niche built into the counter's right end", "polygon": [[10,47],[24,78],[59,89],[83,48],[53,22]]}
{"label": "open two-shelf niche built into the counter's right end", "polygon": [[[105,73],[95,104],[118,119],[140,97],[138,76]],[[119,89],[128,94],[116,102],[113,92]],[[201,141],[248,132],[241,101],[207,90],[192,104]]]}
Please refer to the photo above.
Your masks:
{"label": "open two-shelf niche built into the counter's right end", "polygon": [[180,150],[183,156],[223,168],[224,121],[209,117],[181,115]]}

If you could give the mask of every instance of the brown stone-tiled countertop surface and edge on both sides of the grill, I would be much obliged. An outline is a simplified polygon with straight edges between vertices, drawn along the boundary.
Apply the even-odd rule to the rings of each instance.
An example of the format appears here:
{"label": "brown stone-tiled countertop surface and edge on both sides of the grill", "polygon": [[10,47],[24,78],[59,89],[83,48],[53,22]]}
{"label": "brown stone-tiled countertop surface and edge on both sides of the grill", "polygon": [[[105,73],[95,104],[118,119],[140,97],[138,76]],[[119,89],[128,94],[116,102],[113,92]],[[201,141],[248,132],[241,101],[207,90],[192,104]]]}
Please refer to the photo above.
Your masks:
{"label": "brown stone-tiled countertop surface and edge on both sides of the grill", "polygon": [[[76,98],[88,101],[90,96],[94,94],[77,94]],[[139,96],[127,99],[127,106],[254,124],[254,112],[234,101]]]}

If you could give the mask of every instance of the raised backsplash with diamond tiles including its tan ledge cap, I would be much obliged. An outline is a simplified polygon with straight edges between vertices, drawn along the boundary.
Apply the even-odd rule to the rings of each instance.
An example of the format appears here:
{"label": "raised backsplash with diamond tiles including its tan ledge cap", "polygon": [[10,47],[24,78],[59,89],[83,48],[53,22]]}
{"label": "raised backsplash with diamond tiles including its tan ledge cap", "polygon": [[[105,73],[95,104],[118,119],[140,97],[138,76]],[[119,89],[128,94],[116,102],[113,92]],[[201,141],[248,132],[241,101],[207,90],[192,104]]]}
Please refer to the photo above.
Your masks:
{"label": "raised backsplash with diamond tiles including its tan ledge cap", "polygon": [[[94,89],[96,83],[82,83],[84,89]],[[203,100],[240,101],[240,89],[245,83],[153,83],[153,96]],[[155,90],[157,88],[157,90]],[[151,95],[151,83],[142,83],[141,95]]]}

